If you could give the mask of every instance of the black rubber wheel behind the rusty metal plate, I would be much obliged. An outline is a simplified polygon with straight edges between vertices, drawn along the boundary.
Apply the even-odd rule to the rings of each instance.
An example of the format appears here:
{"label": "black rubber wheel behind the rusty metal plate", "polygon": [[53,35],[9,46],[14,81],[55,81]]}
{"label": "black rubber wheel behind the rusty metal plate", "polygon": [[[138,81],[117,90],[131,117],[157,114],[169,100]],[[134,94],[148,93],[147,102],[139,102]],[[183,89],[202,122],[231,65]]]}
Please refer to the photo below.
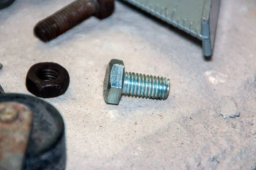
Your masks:
{"label": "black rubber wheel behind the rusty metal plate", "polygon": [[3,94],[0,102],[20,102],[33,112],[23,170],[65,170],[67,156],[61,114],[49,103],[25,94]]}

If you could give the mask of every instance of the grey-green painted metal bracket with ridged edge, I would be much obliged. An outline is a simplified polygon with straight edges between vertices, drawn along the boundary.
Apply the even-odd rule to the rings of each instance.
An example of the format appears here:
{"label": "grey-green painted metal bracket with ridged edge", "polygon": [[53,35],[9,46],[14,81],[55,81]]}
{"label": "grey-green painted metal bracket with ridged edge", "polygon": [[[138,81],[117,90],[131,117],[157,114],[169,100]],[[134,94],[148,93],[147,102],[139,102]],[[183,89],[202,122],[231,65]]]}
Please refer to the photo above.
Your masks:
{"label": "grey-green painted metal bracket with ridged edge", "polygon": [[212,55],[221,0],[123,0],[197,37]]}

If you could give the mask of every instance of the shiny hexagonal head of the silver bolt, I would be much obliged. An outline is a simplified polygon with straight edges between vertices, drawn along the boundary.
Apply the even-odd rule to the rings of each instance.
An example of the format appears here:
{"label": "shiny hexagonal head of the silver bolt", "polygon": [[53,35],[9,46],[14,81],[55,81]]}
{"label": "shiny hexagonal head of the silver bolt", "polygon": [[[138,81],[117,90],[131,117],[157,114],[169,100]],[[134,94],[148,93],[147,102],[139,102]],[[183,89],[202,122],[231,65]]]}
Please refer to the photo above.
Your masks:
{"label": "shiny hexagonal head of the silver bolt", "polygon": [[122,95],[124,77],[124,62],[119,59],[111,59],[106,69],[103,85],[103,96],[105,102],[118,105]]}

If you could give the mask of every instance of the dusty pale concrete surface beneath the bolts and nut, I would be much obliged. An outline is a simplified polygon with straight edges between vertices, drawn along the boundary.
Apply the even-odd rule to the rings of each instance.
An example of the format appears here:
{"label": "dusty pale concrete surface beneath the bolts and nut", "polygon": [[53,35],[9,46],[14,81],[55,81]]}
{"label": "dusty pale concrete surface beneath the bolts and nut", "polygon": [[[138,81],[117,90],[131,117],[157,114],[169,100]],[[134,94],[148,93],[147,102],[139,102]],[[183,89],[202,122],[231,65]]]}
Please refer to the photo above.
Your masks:
{"label": "dusty pale concrete surface beneath the bolts and nut", "polygon": [[[64,117],[67,170],[255,170],[255,0],[222,0],[211,61],[201,44],[119,2],[106,20],[92,17],[49,43],[34,37],[38,20],[70,2],[16,0],[0,10],[7,93],[29,94],[26,72],[37,62],[69,71],[67,92],[46,99]],[[102,86],[112,58],[126,71],[169,77],[169,98],[123,96],[118,106],[107,105]],[[234,118],[221,113],[236,111]]]}

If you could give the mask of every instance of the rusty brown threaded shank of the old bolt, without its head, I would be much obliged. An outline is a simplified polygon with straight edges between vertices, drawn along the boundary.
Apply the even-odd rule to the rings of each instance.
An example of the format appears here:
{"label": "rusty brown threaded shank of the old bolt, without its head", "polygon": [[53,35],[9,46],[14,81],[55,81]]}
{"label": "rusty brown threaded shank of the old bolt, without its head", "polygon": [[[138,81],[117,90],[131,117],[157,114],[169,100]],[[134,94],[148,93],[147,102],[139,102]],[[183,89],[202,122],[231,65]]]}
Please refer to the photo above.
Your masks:
{"label": "rusty brown threaded shank of the old bolt, without its head", "polygon": [[50,41],[90,17],[95,10],[94,0],[76,0],[39,21],[34,27],[34,33],[42,41]]}

